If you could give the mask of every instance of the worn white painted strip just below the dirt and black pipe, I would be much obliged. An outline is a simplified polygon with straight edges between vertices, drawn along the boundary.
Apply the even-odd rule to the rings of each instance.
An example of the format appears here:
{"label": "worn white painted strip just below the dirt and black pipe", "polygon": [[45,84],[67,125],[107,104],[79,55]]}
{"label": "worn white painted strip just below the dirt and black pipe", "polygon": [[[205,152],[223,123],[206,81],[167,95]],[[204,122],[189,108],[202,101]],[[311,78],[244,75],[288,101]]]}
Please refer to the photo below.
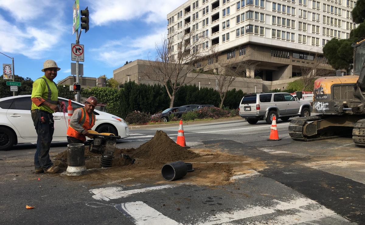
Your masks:
{"label": "worn white painted strip just below the dirt and black pipe", "polygon": [[105,200],[109,201],[111,199],[116,198],[124,198],[130,196],[131,194],[142,193],[142,192],[149,192],[153,190],[161,190],[165,188],[172,188],[179,185],[183,185],[186,183],[180,183],[176,185],[162,185],[162,186],[155,186],[155,187],[145,187],[141,189],[133,189],[133,190],[123,190],[123,187],[104,187],[104,188],[97,188],[89,190],[94,195],[92,196],[96,200]]}

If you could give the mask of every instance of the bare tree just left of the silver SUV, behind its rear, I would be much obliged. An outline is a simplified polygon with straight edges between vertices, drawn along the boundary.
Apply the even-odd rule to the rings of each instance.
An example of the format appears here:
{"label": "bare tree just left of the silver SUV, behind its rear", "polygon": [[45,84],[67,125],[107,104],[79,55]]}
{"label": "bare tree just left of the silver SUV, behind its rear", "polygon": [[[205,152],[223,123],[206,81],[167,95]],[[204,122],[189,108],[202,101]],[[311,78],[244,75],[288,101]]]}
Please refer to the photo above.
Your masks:
{"label": "bare tree just left of the silver SUV, behind its rear", "polygon": [[220,108],[223,107],[227,91],[230,90],[234,80],[237,77],[246,77],[246,71],[253,68],[255,64],[255,62],[248,60],[251,51],[247,50],[246,52],[245,47],[239,48],[237,56],[235,55],[236,52],[237,49],[228,51],[227,58],[223,55],[218,59],[218,53],[210,56],[218,59],[214,65],[216,67],[214,76],[216,78],[216,90],[220,96]]}

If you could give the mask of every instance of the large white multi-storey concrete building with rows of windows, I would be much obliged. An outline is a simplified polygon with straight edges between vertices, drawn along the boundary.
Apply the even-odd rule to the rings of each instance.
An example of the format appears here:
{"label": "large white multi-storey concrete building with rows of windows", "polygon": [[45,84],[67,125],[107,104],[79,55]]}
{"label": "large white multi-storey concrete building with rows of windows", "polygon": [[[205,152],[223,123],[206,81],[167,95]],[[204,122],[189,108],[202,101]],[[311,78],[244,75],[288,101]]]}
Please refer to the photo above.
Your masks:
{"label": "large white multi-storey concrete building with rows of windows", "polygon": [[[323,57],[332,38],[346,39],[351,29],[351,0],[189,0],[170,12],[168,37],[174,54],[183,32],[198,30],[209,40],[199,48],[216,47],[219,57],[244,57],[254,62],[246,76],[260,76],[265,86],[286,87],[301,75],[301,67]],[[283,80],[282,85],[280,81]],[[285,82],[284,82],[285,80]],[[274,85],[275,84],[275,85]],[[277,84],[277,85],[276,85]]]}

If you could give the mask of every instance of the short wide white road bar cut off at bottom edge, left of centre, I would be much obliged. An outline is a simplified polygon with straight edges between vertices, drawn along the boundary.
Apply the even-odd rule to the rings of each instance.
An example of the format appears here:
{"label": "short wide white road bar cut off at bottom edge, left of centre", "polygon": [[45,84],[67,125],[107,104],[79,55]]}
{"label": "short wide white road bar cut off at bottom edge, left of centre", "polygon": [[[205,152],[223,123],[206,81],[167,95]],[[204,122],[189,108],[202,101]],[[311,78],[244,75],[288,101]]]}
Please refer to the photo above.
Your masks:
{"label": "short wide white road bar cut off at bottom edge, left of centre", "polygon": [[115,208],[122,212],[126,217],[137,225],[178,225],[173,219],[164,216],[154,208],[143,202],[126,202],[115,205]]}

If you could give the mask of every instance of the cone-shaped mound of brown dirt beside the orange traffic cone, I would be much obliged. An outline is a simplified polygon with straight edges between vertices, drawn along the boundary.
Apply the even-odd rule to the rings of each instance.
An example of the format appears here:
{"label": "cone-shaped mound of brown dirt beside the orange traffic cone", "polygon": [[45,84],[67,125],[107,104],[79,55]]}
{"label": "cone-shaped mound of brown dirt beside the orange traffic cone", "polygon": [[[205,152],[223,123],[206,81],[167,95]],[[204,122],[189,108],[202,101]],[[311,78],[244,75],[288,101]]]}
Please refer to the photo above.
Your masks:
{"label": "cone-shaped mound of brown dirt beside the orange traffic cone", "polygon": [[177,145],[162,130],[156,131],[154,137],[137,149],[116,149],[114,155],[128,154],[143,166],[157,168],[165,163],[200,157],[199,154]]}

